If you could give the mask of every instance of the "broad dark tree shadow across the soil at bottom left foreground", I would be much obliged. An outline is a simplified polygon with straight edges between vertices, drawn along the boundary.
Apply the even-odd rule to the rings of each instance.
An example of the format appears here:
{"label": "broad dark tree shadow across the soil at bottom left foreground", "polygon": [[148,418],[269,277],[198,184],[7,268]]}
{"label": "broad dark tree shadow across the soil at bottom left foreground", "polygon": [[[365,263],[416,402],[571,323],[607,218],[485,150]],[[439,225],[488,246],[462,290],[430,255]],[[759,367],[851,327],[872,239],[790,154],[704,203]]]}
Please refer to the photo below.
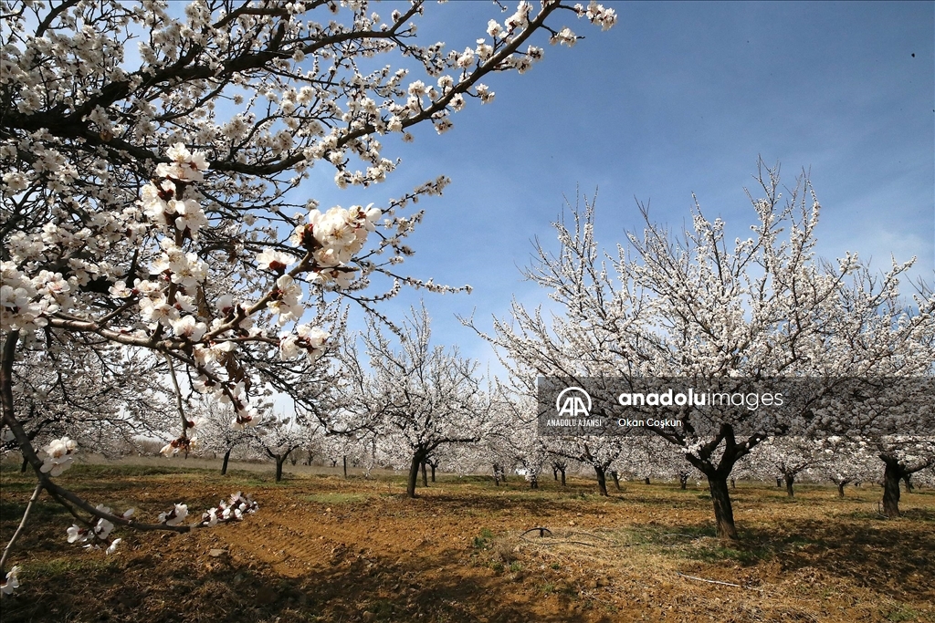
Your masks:
{"label": "broad dark tree shadow across the soil at bottom left foreground", "polygon": [[[452,559],[345,556],[297,577],[266,565],[151,553],[29,565],[29,592],[4,603],[4,621],[611,621],[573,590],[519,591],[506,574],[457,573]],[[483,571],[483,570],[482,570]],[[551,603],[541,603],[552,600]],[[542,607],[540,608],[539,605]]]}

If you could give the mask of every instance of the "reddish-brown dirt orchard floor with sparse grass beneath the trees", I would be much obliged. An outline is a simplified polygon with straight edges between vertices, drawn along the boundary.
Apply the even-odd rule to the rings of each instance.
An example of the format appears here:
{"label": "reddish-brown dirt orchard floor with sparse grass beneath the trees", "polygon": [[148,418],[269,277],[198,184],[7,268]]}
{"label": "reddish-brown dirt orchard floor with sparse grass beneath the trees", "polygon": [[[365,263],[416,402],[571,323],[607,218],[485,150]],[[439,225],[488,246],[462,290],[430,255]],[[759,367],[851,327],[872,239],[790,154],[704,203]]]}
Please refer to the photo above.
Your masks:
{"label": "reddish-brown dirt orchard floor with sparse grass beneath the trees", "polygon": [[[705,491],[625,483],[446,476],[405,497],[400,476],[337,470],[281,484],[157,464],[79,465],[61,477],[92,503],[154,519],[242,489],[260,511],[191,534],[115,531],[117,554],[65,541],[72,518],[42,499],[13,563],[16,621],[935,621],[935,491],[876,513],[879,488],[732,491],[739,545],[713,538]],[[288,471],[288,468],[287,468]],[[4,544],[34,487],[2,473]],[[612,485],[611,485],[612,488]],[[535,527],[551,531],[540,537]],[[213,551],[212,551],[213,550]],[[700,578],[700,579],[699,579]],[[714,584],[702,580],[725,582]]]}

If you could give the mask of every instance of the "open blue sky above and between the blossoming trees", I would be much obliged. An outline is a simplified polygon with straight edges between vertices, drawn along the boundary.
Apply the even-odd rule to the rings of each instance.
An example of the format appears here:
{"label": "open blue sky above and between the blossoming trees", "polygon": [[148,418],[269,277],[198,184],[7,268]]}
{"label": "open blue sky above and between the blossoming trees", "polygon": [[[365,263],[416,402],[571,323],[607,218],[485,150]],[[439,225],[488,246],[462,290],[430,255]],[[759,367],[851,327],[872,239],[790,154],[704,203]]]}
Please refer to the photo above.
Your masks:
{"label": "open blue sky above and between the blossoming trees", "polygon": [[[753,217],[743,188],[755,194],[758,156],[782,163],[790,187],[811,171],[822,255],[857,251],[880,268],[890,253],[917,256],[914,275],[932,281],[935,5],[606,4],[619,14],[614,28],[560,16],[554,25],[586,38],[570,50],[540,43],[540,64],[488,80],[496,101],[470,101],[449,133],[426,128],[406,146],[387,140],[386,154],[403,163],[386,183],[316,193],[323,206],[379,204],[452,178],[443,197],[420,203],[416,255],[403,266],[474,292],[404,291],[385,313],[401,319],[424,296],[437,343],[486,362],[490,348],[454,315],[473,310],[489,329],[513,296],[546,301],[517,267],[536,236],[556,248],[550,223],[563,196],[573,202],[577,189],[599,188],[597,237],[608,248],[641,229],[635,200],[680,227],[693,192],[707,216],[743,234]],[[388,14],[390,5],[373,8]],[[504,17],[486,2],[430,5],[419,35],[463,49],[485,36],[487,20]]]}

